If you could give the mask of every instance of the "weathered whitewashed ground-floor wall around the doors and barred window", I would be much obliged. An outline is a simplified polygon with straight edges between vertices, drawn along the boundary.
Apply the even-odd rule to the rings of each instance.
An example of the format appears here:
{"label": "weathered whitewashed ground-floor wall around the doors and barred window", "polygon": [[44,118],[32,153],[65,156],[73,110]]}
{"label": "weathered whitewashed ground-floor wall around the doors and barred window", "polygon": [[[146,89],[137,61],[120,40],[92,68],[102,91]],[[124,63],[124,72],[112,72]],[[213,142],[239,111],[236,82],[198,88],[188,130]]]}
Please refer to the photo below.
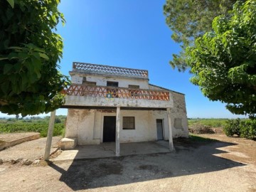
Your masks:
{"label": "weathered whitewashed ground-floor wall around the doors and barred window", "polygon": [[[185,114],[174,115],[183,117]],[[116,112],[100,110],[68,110],[65,137],[78,138],[79,145],[100,144],[103,141],[103,122],[105,116],[116,116]],[[135,117],[135,129],[122,129],[122,117]],[[121,110],[120,142],[149,142],[157,139],[156,119],[163,119],[164,139],[169,139],[169,125],[166,111]],[[183,129],[173,128],[174,137],[188,137],[186,119],[182,120]]]}

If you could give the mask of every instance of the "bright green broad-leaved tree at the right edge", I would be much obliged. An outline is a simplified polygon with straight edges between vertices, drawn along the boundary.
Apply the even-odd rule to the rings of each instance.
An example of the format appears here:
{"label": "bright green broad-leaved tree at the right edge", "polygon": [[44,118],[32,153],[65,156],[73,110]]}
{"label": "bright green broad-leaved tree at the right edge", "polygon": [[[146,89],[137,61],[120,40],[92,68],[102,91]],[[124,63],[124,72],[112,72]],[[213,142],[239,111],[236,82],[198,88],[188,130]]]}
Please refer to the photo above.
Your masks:
{"label": "bright green broad-leaved tree at the right edge", "polygon": [[186,49],[191,82],[234,114],[256,114],[256,1],[238,2],[232,16],[218,16],[213,31]]}

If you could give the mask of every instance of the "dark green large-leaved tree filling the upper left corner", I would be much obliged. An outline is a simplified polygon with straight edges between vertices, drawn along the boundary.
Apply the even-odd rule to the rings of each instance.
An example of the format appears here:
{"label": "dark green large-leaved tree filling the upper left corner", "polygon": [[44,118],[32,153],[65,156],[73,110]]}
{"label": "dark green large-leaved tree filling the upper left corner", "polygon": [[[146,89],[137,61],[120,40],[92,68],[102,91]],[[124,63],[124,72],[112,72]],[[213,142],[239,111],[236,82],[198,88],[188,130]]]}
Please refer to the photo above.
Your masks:
{"label": "dark green large-leaved tree filling the upper left corner", "polygon": [[55,33],[59,0],[0,1],[0,111],[39,114],[63,105],[68,77],[57,68],[63,53]]}

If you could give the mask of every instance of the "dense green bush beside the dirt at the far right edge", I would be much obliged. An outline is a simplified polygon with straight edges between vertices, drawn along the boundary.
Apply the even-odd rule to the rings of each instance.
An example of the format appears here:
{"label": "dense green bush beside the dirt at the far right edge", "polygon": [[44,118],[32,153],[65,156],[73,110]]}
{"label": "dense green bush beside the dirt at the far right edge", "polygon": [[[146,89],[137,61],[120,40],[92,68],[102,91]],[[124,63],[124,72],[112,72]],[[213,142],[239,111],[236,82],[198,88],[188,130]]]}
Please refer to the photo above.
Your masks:
{"label": "dense green bush beside the dirt at the far right edge", "polygon": [[225,123],[223,132],[228,137],[237,135],[247,139],[256,137],[256,119],[230,119]]}

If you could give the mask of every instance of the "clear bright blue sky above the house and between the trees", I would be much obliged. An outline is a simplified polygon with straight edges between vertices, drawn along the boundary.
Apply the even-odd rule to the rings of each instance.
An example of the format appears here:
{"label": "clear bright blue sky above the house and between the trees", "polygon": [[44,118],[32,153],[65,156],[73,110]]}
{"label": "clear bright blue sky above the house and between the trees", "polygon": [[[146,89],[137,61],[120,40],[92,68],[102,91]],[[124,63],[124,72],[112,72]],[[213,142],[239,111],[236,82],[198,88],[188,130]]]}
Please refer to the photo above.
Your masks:
{"label": "clear bright blue sky above the house and between the trees", "polygon": [[[149,82],[186,95],[188,117],[235,118],[221,102],[210,102],[189,82],[188,72],[169,65],[180,48],[165,23],[165,0],[62,0],[67,23],[60,71],[69,75],[73,61],[149,70]],[[57,114],[67,114],[58,110]],[[0,114],[1,117],[6,116]]]}

